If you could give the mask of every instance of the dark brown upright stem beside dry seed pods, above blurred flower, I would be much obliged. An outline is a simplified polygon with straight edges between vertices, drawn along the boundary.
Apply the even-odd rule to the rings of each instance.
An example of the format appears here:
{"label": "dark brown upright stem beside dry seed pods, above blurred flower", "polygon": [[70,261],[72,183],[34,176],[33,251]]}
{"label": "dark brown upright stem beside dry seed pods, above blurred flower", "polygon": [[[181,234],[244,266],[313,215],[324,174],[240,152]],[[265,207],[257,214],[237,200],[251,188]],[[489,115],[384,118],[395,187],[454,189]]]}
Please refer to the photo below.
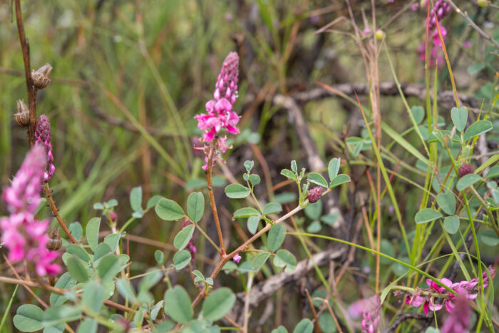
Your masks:
{"label": "dark brown upright stem beside dry seed pods, above blurred flower", "polygon": [[21,42],[21,50],[23,51],[24,75],[26,76],[26,91],[28,92],[29,103],[29,125],[28,125],[28,140],[30,147],[35,144],[35,126],[36,126],[36,92],[31,80],[31,63],[29,59],[29,43],[26,40],[24,32],[23,18],[21,15],[21,0],[16,0],[16,23],[17,31],[19,31],[19,41]]}

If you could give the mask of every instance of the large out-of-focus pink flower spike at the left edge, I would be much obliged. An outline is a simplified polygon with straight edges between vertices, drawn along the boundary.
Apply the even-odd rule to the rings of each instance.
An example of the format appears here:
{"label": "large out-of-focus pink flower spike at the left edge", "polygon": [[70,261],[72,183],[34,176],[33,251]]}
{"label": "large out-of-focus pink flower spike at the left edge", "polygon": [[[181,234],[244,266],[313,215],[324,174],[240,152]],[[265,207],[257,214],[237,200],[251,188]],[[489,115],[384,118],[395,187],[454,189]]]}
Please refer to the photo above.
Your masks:
{"label": "large out-of-focus pink flower spike at the left edge", "polygon": [[41,202],[46,163],[45,150],[35,145],[24,158],[11,186],[1,195],[10,212],[9,217],[0,218],[1,242],[9,249],[9,260],[33,263],[38,276],[61,272],[61,267],[52,262],[58,253],[46,248],[50,220],[38,221],[34,216]]}

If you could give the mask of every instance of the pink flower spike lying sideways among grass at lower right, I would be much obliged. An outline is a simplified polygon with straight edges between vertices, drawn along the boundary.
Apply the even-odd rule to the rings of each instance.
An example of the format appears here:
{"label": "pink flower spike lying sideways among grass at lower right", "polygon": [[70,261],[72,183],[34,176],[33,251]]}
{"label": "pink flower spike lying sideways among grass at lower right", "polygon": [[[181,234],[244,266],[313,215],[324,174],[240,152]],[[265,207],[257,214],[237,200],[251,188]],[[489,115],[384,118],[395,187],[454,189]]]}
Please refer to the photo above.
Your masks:
{"label": "pink flower spike lying sideways among grass at lower right", "polygon": [[[490,274],[490,277],[495,276],[494,267],[488,267],[488,272]],[[483,272],[482,278],[483,288],[485,289],[488,286],[487,272]],[[480,291],[480,279],[478,279],[478,277],[475,277],[470,281],[464,280],[456,283],[453,283],[451,280],[448,280],[445,277],[438,281],[456,291],[457,294],[464,294],[467,299],[475,299],[478,296],[478,292]],[[408,294],[406,297],[406,304],[410,307],[421,307],[421,305],[423,305],[423,311],[425,314],[428,314],[428,309],[430,309],[431,311],[438,311],[443,306],[446,307],[446,310],[449,313],[452,313],[454,307],[456,307],[455,301],[457,294],[448,292],[446,288],[437,285],[436,282],[430,279],[426,279],[426,285],[428,285],[429,288],[426,290],[421,290],[421,292],[428,292],[428,294],[423,295],[421,292],[416,294]],[[443,297],[443,304],[436,304],[434,302],[434,296],[429,293],[441,294]]]}

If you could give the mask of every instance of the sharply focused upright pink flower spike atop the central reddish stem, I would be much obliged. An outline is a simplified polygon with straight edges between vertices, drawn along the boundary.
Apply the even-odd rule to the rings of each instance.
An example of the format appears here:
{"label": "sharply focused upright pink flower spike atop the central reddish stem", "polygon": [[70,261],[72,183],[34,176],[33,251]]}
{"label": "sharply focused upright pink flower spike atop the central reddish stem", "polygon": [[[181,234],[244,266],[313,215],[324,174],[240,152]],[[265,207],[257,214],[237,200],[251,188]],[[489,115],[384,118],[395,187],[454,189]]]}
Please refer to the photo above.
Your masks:
{"label": "sharply focused upright pink flower spike atop the central reddish stem", "polygon": [[[207,113],[201,113],[194,118],[197,119],[197,128],[204,130],[202,134],[202,142],[211,145],[212,150],[212,166],[219,160],[220,151],[225,153],[226,148],[230,148],[225,144],[225,137],[219,137],[220,130],[225,129],[232,134],[239,133],[239,128],[236,127],[240,116],[233,111],[233,106],[237,98],[237,76],[239,75],[239,56],[236,52],[230,52],[222,65],[220,74],[215,83],[215,92],[213,99],[207,101],[205,107]],[[204,170],[208,168],[209,151],[205,149],[206,164]]]}

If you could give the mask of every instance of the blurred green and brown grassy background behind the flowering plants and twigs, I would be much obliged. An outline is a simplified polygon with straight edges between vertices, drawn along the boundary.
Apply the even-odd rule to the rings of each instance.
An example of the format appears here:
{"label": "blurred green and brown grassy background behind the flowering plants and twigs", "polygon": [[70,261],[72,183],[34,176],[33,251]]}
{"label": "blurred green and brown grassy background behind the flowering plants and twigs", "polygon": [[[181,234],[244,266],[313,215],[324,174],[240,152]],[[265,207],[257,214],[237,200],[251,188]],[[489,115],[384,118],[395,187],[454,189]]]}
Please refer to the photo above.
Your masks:
{"label": "blurred green and brown grassy background behind the flowering plants and twigs", "polygon": [[[0,4],[2,187],[9,183],[28,150],[25,130],[12,117],[16,100],[26,100],[26,83],[9,2]],[[366,17],[371,17],[370,3],[351,1],[361,28],[361,11],[365,9]],[[377,24],[387,24],[386,44],[398,79],[401,83],[424,83],[424,64],[416,48],[424,41],[426,11],[409,9],[395,17],[406,1],[376,3]],[[318,81],[331,85],[366,83],[364,64],[353,39],[332,32],[315,34],[334,19],[348,16],[344,1],[29,0],[22,4],[31,64],[38,68],[48,62],[54,68],[51,85],[38,93],[37,112],[51,120],[56,165],[51,186],[61,216],[68,224],[80,221],[84,227],[86,221],[100,214],[93,209],[93,203],[116,199],[118,225],[123,225],[132,212],[128,195],[135,186],[142,186],[144,202],[153,195],[163,195],[182,203],[188,195],[182,188],[202,188],[204,158],[192,149],[201,131],[193,116],[204,111],[221,63],[230,51],[237,51],[241,57],[235,109],[242,116],[242,134],[231,140],[234,149],[225,158],[238,179],[245,160],[255,160],[257,171],[263,174],[261,155],[267,161],[272,185],[282,183],[284,178],[279,172],[289,167],[292,159],[297,160],[299,167],[309,168],[292,114],[272,103],[274,94],[291,96],[309,91],[317,88]],[[498,39],[497,8],[480,9],[473,1],[463,5],[477,24]],[[490,105],[497,91],[497,49],[478,39],[461,16],[451,13],[443,22],[448,30],[446,43],[458,91]],[[340,22],[335,29],[351,31],[351,26]],[[465,41],[470,41],[471,46],[463,47]],[[393,82],[384,51],[379,66],[380,81]],[[438,85],[439,90],[450,89],[445,68],[438,73]],[[366,96],[361,96],[361,101],[369,104]],[[410,98],[409,102],[411,106],[424,103],[417,98]],[[345,140],[360,137],[364,128],[359,109],[336,96],[302,106],[320,157],[325,161],[332,157],[349,160]],[[441,114],[449,119],[446,111],[442,109]],[[382,99],[381,116],[399,133],[409,126],[398,96]],[[497,122],[495,125],[499,127]],[[411,140],[416,138],[408,136]],[[388,137],[384,138],[385,144],[390,142]],[[399,158],[407,154],[393,150]],[[349,165],[346,171],[351,173],[356,191],[369,193],[363,165]],[[217,184],[227,183],[227,173],[219,175]],[[405,203],[403,215],[408,216],[406,220],[411,225],[421,193],[410,190],[401,180],[394,183],[396,193]],[[292,202],[294,188],[281,185],[269,195],[280,193],[282,203]],[[264,185],[259,190],[264,197]],[[359,209],[355,195],[347,187],[341,192],[342,209],[351,215]],[[222,223],[229,230],[230,212],[237,206],[231,206],[221,188],[217,190],[217,200],[227,209],[226,214],[222,212]],[[384,219],[395,222],[390,220],[388,205],[383,209]],[[0,215],[3,212],[1,203]],[[50,213],[43,210],[41,214]],[[215,229],[210,221],[211,214],[206,212],[202,222],[207,223],[209,230]],[[244,222],[241,226],[245,229]],[[324,228],[323,232],[331,234],[331,227]],[[163,222],[148,212],[133,222],[128,232],[171,243],[179,229],[180,223]],[[239,242],[236,233],[234,237],[232,246]],[[287,242],[289,246],[297,240],[288,237]],[[388,238],[387,242],[398,243]],[[325,248],[328,242],[317,241],[317,245]],[[130,242],[133,274],[144,270],[144,264],[154,265],[153,252],[157,248]],[[306,257],[302,247],[296,248],[298,259]],[[202,244],[198,244],[198,249],[207,257],[214,255],[210,250],[205,253]],[[165,253],[173,255],[168,250]],[[6,272],[4,265],[2,271]],[[179,279],[185,277],[179,275]],[[242,290],[237,280],[231,283],[235,290]],[[11,286],[0,285],[1,290],[6,288],[10,290]],[[21,290],[19,295],[29,297]],[[5,302],[6,299],[0,309]],[[294,299],[290,302],[299,304]],[[290,326],[295,323],[291,315],[286,320]]]}

